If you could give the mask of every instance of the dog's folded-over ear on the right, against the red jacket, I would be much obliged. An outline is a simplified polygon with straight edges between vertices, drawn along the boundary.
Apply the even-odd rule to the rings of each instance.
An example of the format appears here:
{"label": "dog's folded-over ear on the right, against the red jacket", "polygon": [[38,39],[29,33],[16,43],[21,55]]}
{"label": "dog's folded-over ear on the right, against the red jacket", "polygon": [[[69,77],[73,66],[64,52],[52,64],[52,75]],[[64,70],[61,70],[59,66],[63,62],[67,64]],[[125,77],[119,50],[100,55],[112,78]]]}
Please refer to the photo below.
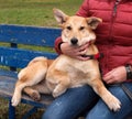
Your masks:
{"label": "dog's folded-over ear on the right, against the red jacket", "polygon": [[96,18],[96,17],[86,18],[86,20],[87,20],[88,25],[89,25],[92,30],[95,30],[95,29],[98,26],[98,24],[99,24],[100,22],[102,22],[102,20],[101,20],[100,18]]}

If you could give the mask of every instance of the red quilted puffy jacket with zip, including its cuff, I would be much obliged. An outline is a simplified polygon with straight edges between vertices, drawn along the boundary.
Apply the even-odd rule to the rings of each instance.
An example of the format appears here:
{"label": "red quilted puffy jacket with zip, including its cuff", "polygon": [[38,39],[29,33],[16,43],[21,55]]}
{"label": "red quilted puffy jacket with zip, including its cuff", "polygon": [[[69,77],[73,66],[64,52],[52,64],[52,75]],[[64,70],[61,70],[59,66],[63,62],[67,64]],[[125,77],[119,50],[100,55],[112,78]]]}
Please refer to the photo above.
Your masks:
{"label": "red quilted puffy jacket with zip, including its cuff", "polygon": [[[117,2],[120,1],[120,2]],[[132,1],[85,0],[77,15],[98,17],[102,23],[97,28],[96,44],[105,57],[100,60],[102,73],[125,64],[132,65]],[[61,53],[55,41],[55,48]]]}

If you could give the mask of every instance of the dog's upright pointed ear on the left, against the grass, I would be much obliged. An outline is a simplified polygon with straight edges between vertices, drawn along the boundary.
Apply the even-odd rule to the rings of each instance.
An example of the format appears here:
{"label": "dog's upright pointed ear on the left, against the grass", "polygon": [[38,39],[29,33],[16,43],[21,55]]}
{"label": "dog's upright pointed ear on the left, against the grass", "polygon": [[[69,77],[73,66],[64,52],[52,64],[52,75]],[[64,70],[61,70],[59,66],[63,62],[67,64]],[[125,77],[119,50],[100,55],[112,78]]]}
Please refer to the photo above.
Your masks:
{"label": "dog's upright pointed ear on the left, against the grass", "polygon": [[59,24],[63,24],[68,19],[68,15],[58,9],[53,9],[54,17]]}

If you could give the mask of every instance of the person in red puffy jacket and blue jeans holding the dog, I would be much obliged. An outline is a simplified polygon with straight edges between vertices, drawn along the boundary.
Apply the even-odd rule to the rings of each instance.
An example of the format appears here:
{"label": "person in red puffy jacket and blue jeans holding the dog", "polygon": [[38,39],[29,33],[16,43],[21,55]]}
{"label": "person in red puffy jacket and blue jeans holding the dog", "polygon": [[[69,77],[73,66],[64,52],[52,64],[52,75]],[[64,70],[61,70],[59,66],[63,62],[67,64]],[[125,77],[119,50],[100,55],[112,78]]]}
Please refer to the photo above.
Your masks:
{"label": "person in red puffy jacket and blue jeans holding the dog", "polygon": [[[98,17],[102,23],[95,31],[96,45],[103,57],[99,60],[102,80],[107,88],[120,101],[121,109],[117,112],[95,94],[90,86],[69,88],[57,97],[43,113],[43,119],[77,119],[85,115],[86,119],[127,119],[132,112],[132,100],[122,89],[123,84],[132,91],[132,1],[131,0],[84,0],[76,15]],[[85,44],[74,48],[58,37],[55,50],[78,60]],[[130,82],[129,82],[130,80]]]}

